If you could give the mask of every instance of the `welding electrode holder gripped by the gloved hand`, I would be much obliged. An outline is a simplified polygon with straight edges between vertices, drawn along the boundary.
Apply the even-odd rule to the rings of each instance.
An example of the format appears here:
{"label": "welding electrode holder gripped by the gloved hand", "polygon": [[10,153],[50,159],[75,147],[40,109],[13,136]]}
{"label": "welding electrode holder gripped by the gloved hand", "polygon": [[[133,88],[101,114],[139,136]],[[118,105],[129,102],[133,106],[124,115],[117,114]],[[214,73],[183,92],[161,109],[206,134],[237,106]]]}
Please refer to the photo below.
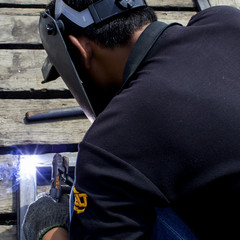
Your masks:
{"label": "welding electrode holder gripped by the gloved hand", "polygon": [[50,196],[59,202],[62,194],[70,193],[73,179],[69,176],[69,159],[56,153],[52,161]]}

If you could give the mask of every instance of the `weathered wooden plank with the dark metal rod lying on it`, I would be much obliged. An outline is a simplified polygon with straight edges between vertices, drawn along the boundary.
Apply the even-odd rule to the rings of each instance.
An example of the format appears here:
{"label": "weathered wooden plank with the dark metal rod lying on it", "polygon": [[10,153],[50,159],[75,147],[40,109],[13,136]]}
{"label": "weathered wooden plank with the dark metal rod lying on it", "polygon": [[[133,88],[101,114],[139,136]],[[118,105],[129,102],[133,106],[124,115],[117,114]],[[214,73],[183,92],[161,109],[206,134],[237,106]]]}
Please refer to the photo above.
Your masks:
{"label": "weathered wooden plank with the dark metal rod lying on it", "polygon": [[77,106],[74,99],[1,100],[0,147],[24,144],[79,143],[90,122],[87,119],[64,119],[37,124],[25,124],[25,113]]}

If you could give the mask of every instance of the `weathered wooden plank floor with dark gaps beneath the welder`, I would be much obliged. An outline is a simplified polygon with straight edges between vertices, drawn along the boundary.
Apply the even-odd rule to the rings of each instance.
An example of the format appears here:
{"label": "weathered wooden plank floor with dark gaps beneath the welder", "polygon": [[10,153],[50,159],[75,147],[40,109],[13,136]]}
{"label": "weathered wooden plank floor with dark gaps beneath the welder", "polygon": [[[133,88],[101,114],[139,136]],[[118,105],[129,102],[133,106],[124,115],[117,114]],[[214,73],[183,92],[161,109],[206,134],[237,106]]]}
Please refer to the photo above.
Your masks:
{"label": "weathered wooden plank floor with dark gaps beneath the welder", "polygon": [[[211,5],[240,8],[240,0]],[[25,113],[77,106],[63,81],[41,84],[46,57],[38,35],[39,13],[47,0],[0,0],[0,240],[17,239],[16,179],[20,154],[55,152],[76,156],[90,127],[85,118],[27,124]],[[159,20],[186,25],[197,12],[193,0],[148,0]]]}

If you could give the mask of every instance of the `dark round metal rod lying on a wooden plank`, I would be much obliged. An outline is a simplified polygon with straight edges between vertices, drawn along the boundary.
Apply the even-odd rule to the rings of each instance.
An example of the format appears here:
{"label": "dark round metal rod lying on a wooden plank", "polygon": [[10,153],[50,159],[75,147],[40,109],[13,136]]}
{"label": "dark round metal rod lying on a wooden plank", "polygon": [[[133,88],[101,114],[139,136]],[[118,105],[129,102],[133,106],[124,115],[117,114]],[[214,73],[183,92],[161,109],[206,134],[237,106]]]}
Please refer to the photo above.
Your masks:
{"label": "dark round metal rod lying on a wooden plank", "polygon": [[25,114],[25,118],[29,122],[77,116],[85,116],[83,110],[78,106],[43,111],[31,111]]}

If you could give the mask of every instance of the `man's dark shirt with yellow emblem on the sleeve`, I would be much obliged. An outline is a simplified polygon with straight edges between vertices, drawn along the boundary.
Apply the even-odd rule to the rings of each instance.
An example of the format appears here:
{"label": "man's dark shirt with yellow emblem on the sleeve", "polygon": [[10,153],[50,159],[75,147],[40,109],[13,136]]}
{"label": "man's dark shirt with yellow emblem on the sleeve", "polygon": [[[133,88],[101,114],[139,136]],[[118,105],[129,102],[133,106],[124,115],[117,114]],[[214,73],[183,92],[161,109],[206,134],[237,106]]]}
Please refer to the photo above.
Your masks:
{"label": "man's dark shirt with yellow emblem on the sleeve", "polygon": [[79,145],[70,239],[150,239],[169,206],[200,239],[239,239],[240,11],[152,44]]}

